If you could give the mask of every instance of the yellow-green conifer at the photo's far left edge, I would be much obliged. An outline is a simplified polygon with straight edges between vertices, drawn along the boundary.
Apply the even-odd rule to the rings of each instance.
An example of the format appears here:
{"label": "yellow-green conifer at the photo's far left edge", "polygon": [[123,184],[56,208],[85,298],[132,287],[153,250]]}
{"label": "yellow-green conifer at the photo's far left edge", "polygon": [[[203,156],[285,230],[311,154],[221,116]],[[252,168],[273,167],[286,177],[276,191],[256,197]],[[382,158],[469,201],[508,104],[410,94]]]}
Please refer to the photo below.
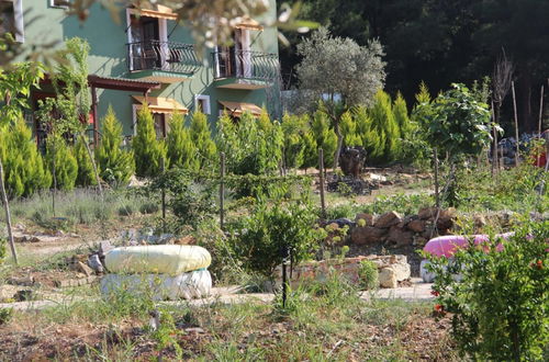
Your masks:
{"label": "yellow-green conifer at the photo's far left edge", "polygon": [[12,197],[30,196],[49,188],[52,176],[22,118],[0,128],[0,160],[4,166],[5,188]]}

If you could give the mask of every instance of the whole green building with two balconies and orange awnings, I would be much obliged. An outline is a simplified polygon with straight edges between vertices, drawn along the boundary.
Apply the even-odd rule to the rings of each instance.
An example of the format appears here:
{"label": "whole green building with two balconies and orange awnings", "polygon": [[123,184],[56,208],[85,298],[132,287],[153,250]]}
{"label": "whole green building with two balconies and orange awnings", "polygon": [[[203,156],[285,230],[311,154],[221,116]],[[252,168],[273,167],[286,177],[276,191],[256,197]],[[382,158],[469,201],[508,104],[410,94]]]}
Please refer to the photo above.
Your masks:
{"label": "whole green building with two balconies and orange awnings", "polygon": [[[190,30],[161,5],[120,9],[121,21],[115,22],[109,10],[96,3],[81,22],[67,15],[59,0],[0,0],[0,4],[3,24],[16,29],[16,39],[25,49],[45,44],[61,47],[75,36],[88,41],[90,137],[93,134],[96,140],[101,129],[98,120],[110,104],[127,137],[134,135],[143,102],[154,112],[159,137],[166,134],[175,109],[183,113],[201,109],[212,127],[224,111],[234,116],[245,111],[258,114],[262,108],[274,116],[280,113],[277,29],[264,29],[256,20],[244,19],[234,26],[233,45],[208,48],[197,47]],[[276,19],[274,0],[264,16],[259,19],[264,23]],[[53,95],[46,82],[33,91],[31,103],[35,109],[38,100]],[[44,131],[32,113],[26,118],[41,138]]]}

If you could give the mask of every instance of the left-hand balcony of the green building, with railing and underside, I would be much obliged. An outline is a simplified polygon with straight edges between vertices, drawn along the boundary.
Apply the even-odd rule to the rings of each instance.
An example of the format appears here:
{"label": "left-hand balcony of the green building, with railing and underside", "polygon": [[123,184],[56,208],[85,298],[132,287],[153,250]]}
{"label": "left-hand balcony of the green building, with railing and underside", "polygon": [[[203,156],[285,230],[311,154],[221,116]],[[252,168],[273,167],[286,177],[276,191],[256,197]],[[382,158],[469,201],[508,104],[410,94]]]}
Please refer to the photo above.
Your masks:
{"label": "left-hand balcony of the green building, with railing and underside", "polygon": [[160,41],[127,44],[131,78],[173,83],[190,79],[200,65],[191,44]]}

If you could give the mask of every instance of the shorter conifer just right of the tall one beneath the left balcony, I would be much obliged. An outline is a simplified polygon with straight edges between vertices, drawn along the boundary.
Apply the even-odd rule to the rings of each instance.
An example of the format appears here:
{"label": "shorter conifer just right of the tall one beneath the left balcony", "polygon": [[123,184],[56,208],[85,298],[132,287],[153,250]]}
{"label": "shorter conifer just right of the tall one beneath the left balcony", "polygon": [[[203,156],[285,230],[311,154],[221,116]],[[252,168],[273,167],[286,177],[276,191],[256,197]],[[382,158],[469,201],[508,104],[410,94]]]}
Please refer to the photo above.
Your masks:
{"label": "shorter conifer just right of the tall one beneath the left balcony", "polygon": [[169,124],[167,139],[168,159],[170,167],[181,167],[190,170],[199,169],[197,149],[191,139],[191,133],[186,127],[184,117],[181,113],[175,113]]}

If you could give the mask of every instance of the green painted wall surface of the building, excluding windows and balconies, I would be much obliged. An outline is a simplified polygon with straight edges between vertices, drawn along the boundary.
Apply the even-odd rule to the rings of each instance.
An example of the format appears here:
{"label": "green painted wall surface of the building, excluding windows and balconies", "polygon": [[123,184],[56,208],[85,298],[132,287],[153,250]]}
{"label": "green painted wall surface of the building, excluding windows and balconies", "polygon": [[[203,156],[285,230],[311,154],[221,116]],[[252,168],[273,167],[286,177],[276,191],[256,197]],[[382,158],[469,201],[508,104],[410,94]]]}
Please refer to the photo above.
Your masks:
{"label": "green painted wall surface of the building, excluding windows and balconies", "polygon": [[[120,22],[116,23],[110,12],[99,4],[90,9],[90,15],[85,22],[80,22],[77,16],[67,16],[64,9],[53,8],[49,0],[22,0],[24,9],[24,37],[25,48],[33,46],[51,47],[44,52],[63,47],[63,41],[79,36],[86,38],[90,44],[89,70],[92,75],[102,77],[128,78],[127,68],[127,24],[126,10],[119,11]],[[276,19],[276,0],[270,0],[271,9],[266,16]],[[168,41],[179,43],[194,43],[191,33],[176,21],[167,21]],[[274,27],[264,31],[250,31],[253,41],[251,49],[264,53],[278,54],[278,36]],[[21,59],[23,59],[24,55]],[[194,110],[194,95],[210,95],[211,114],[209,121],[212,128],[215,128],[221,105],[219,101],[236,101],[254,103],[259,106],[268,106],[269,112],[276,112],[277,108],[271,106],[279,102],[278,91],[260,90],[233,90],[219,89],[213,82],[212,55],[211,49],[205,49],[202,56],[203,65],[189,80],[163,84],[161,89],[153,90],[150,97],[173,98],[190,112]],[[278,87],[278,86],[276,86]],[[98,116],[102,117],[107,113],[110,104],[114,108],[117,117],[123,123],[124,134],[133,134],[131,92],[98,89]],[[141,95],[141,94],[137,94]]]}

